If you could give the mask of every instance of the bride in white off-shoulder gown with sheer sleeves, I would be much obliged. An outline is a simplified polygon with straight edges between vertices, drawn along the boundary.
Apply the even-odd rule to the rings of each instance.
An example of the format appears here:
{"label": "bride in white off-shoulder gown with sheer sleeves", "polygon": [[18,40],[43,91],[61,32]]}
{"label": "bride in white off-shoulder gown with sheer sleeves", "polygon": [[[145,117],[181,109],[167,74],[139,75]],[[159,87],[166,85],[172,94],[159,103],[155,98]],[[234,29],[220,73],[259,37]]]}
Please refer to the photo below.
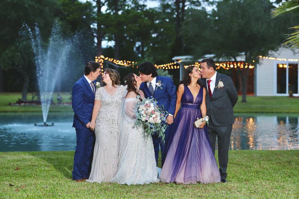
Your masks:
{"label": "bride in white off-shoulder gown with sheer sleeves", "polygon": [[135,107],[142,83],[139,76],[130,73],[125,77],[125,93],[121,102],[118,124],[119,153],[117,173],[111,180],[119,184],[147,184],[159,181],[152,137],[147,137],[143,127],[136,127]]}

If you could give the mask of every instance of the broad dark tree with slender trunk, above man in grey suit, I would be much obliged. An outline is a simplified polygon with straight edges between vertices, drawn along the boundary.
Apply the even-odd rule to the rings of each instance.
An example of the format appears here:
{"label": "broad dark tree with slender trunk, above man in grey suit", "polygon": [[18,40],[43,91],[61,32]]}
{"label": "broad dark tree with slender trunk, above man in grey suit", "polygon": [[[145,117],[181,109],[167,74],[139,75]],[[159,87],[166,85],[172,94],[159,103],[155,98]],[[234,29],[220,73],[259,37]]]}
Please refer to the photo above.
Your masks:
{"label": "broad dark tree with slender trunk, above man in grey suit", "polygon": [[[194,15],[193,21],[206,21],[211,18],[211,25],[196,25],[193,23],[189,37],[196,38],[197,31],[202,31],[207,39],[204,53],[215,54],[216,58],[237,61],[238,56],[244,57],[244,62],[259,63],[259,55],[267,56],[269,51],[277,50],[283,41],[286,27],[295,16],[279,17],[272,20],[270,11],[273,4],[260,0],[223,0],[218,2],[216,10],[211,15],[200,18]],[[192,45],[192,44],[190,44]],[[194,48],[196,44],[193,44]],[[199,47],[200,48],[200,47]],[[194,49],[194,51],[198,51]],[[200,54],[199,54],[200,55]],[[199,57],[198,57],[199,58]],[[237,68],[241,79],[242,102],[246,102],[246,87],[249,67]]]}

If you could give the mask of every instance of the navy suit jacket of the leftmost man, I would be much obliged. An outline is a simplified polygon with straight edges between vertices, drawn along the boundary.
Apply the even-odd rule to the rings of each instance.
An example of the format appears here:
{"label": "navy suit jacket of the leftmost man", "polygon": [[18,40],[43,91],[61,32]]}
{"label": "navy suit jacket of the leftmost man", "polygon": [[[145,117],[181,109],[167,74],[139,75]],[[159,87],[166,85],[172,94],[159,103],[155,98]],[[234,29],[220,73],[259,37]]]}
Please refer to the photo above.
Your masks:
{"label": "navy suit jacket of the leftmost man", "polygon": [[90,122],[93,113],[95,95],[84,76],[75,83],[72,96],[72,108],[75,112],[73,127],[87,129],[86,124]]}

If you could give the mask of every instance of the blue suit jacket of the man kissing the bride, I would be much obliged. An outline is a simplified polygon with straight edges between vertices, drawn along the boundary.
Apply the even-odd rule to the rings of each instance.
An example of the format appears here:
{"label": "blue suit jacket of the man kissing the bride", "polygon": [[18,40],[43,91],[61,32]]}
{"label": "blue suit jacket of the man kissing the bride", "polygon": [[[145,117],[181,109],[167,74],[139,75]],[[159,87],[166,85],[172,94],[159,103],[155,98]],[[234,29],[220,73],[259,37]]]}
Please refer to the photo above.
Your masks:
{"label": "blue suit jacket of the man kissing the bride", "polygon": [[[177,93],[173,80],[170,77],[157,76],[156,82],[158,83],[158,81],[161,81],[164,86],[162,85],[162,89],[160,89],[156,85],[153,97],[157,100],[158,105],[162,104],[164,106],[164,110],[174,115],[175,105],[177,102]],[[147,87],[146,82],[141,83],[140,90],[144,92],[146,98],[151,97],[150,90]]]}

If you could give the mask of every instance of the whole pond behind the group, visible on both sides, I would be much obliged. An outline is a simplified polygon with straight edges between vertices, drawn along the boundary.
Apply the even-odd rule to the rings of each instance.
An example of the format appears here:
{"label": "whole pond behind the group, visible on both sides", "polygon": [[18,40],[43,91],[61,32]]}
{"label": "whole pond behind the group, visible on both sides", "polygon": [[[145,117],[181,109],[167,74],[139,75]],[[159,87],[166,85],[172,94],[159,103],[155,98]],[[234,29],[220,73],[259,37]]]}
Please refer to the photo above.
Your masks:
{"label": "whole pond behind the group, visible on both sides", "polygon": [[[38,127],[42,113],[1,113],[0,151],[75,150],[73,113],[49,113],[52,127]],[[299,114],[235,114],[230,150],[299,149]]]}

